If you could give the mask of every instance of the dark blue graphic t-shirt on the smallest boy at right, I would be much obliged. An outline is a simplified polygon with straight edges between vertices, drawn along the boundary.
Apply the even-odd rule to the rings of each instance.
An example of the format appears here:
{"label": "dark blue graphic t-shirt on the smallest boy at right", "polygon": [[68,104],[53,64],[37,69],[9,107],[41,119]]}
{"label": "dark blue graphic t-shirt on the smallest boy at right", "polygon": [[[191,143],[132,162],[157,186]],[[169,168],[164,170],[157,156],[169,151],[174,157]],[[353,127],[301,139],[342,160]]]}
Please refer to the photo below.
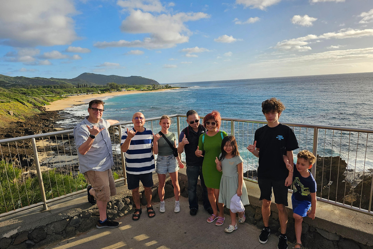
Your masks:
{"label": "dark blue graphic t-shirt on the smallest boy at right", "polygon": [[[293,173],[293,196],[296,200],[306,200],[311,201],[311,193],[315,193],[317,190],[316,181],[312,174],[309,177],[304,178],[298,172],[297,167],[294,163],[294,173]],[[309,171],[308,171],[309,172]]]}

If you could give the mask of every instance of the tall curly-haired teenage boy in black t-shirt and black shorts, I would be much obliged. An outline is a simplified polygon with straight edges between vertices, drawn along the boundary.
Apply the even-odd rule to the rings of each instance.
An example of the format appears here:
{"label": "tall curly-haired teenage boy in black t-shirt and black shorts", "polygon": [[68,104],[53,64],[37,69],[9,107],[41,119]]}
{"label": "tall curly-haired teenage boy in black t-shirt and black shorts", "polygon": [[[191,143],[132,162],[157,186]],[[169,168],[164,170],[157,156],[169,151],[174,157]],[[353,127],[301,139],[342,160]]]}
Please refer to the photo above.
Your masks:
{"label": "tall curly-haired teenage boy in black t-shirt and black shorts", "polygon": [[281,226],[278,249],[288,248],[286,226],[288,223],[288,186],[292,182],[293,173],[286,168],[283,155],[287,155],[289,164],[293,165],[293,150],[297,149],[298,142],[293,130],[278,121],[284,104],[276,98],[262,103],[262,112],[267,125],[255,131],[254,144],[247,149],[259,158],[258,185],[260,200],[262,200],[262,216],[264,228],[259,235],[259,242],[265,244],[271,233],[269,220],[271,215],[272,188],[274,201],[278,209],[278,219]]}

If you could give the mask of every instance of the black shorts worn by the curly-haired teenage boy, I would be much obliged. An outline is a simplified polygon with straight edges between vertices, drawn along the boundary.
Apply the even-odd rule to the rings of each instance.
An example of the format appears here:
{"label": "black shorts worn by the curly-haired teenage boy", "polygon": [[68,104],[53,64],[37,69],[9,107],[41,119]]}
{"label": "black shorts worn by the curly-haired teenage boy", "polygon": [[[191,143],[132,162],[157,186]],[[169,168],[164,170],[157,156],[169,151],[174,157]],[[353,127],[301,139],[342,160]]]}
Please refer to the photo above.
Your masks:
{"label": "black shorts worn by the curly-haired teenage boy", "polygon": [[260,188],[259,200],[271,200],[272,188],[274,194],[274,202],[288,206],[288,187],[285,186],[285,179],[272,180],[271,178],[258,177],[258,185]]}

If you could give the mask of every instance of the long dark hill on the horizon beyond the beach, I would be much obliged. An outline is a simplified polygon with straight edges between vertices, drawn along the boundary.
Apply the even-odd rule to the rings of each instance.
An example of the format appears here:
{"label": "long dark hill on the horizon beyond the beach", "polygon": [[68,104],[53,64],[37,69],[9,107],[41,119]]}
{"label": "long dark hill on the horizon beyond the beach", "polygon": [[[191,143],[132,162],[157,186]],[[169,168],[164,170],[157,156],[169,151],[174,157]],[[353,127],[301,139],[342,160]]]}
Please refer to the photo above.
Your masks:
{"label": "long dark hill on the horizon beyond the beach", "polygon": [[11,77],[0,74],[0,87],[19,87],[19,86],[47,86],[47,85],[60,85],[71,83],[77,86],[78,84],[87,85],[106,85],[107,83],[115,82],[117,84],[127,85],[159,85],[159,83],[153,79],[144,78],[141,76],[130,76],[123,77],[118,75],[102,75],[95,73],[82,73],[73,79],[58,79],[58,78],[27,78],[23,76]]}

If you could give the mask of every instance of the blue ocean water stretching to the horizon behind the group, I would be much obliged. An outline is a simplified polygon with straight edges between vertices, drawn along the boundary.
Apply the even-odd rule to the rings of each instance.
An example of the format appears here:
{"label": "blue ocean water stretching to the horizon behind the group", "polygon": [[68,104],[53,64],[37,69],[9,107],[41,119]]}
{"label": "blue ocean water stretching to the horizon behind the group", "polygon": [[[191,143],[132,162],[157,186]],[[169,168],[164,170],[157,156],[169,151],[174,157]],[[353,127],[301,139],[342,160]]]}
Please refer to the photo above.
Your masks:
{"label": "blue ocean water stretching to the horizon behind the group", "polygon": [[[276,97],[286,106],[280,122],[373,128],[373,72],[170,85],[183,88],[104,99],[103,117],[130,121],[136,111],[141,111],[145,118],[151,118],[163,114],[186,114],[187,110],[195,109],[201,116],[218,110],[224,118],[265,121],[261,103]],[[85,116],[86,109],[86,105],[72,107],[65,113]],[[76,117],[67,118],[60,121],[60,125],[71,128],[78,122]],[[331,150],[326,151],[325,155],[330,156],[331,153]],[[341,157],[350,159],[346,153],[340,153]],[[368,144],[367,159],[358,158],[357,167],[355,162],[351,167],[360,171],[364,165],[364,170],[373,168],[371,154],[372,146]],[[338,150],[333,151],[333,156],[336,155],[339,155]]]}

